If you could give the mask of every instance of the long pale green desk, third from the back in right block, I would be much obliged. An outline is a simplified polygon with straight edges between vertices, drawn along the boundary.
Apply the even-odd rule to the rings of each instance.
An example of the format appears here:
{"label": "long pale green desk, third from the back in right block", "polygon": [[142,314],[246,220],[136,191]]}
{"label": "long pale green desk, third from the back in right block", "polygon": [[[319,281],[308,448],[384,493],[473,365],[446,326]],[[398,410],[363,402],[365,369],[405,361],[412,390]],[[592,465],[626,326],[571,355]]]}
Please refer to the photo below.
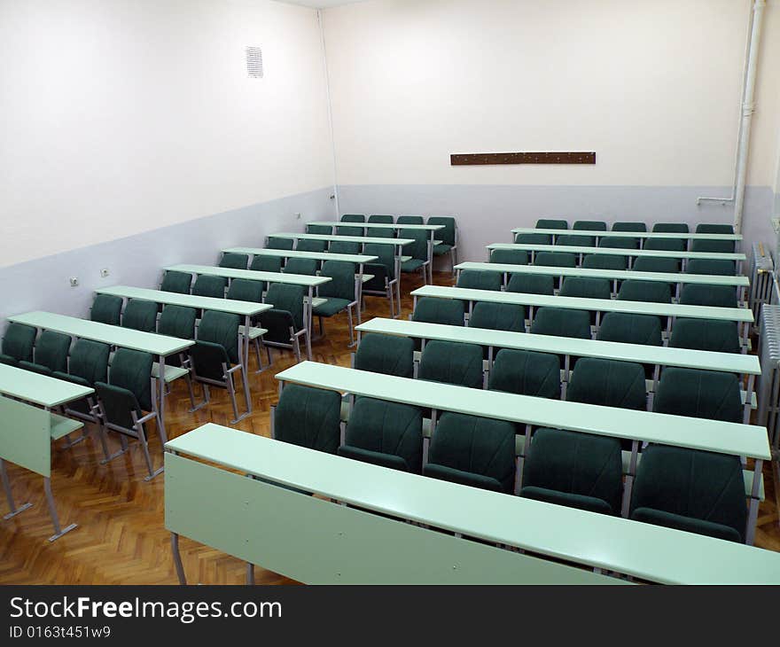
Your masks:
{"label": "long pale green desk, third from the back in right block", "polygon": [[485,272],[500,272],[503,274],[503,283],[507,283],[509,274],[536,274],[548,277],[586,277],[606,278],[612,281],[612,292],[617,292],[618,281],[653,281],[676,285],[675,298],[680,298],[681,285],[692,283],[698,285],[729,285],[737,289],[738,299],[745,300],[747,288],[750,287],[750,279],[745,276],[724,277],[717,274],[687,274],[683,272],[637,272],[631,269],[589,269],[589,268],[564,268],[550,267],[548,265],[511,265],[508,263],[493,262],[464,262],[455,266],[460,272],[464,269],[476,269]]}

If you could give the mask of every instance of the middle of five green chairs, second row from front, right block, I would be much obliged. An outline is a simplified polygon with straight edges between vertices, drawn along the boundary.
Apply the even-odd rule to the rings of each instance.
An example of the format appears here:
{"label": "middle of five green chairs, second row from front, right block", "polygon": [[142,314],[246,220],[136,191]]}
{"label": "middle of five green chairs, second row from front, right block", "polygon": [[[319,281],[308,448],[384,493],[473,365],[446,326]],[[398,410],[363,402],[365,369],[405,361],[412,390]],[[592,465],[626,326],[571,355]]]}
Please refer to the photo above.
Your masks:
{"label": "middle of five green chairs, second row from front, right block", "polygon": [[548,353],[502,348],[495,355],[487,388],[557,400],[561,392],[560,359]]}

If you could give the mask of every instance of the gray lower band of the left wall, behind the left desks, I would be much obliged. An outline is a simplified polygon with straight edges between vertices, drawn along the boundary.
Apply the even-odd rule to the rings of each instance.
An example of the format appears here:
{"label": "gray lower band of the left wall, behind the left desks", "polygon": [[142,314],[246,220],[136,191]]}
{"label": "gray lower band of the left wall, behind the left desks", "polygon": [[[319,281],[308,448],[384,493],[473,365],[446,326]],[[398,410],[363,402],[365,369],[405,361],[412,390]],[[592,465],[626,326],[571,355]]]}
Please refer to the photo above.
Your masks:
{"label": "gray lower band of the left wall, behind the left desks", "polygon": [[[99,286],[156,287],[166,265],[215,265],[222,247],[263,246],[274,231],[302,230],[307,220],[332,219],[332,192],[325,187],[0,268],[0,323],[4,327],[6,316],[38,309],[88,316]],[[103,268],[108,277],[100,277]],[[80,285],[71,287],[69,277],[78,277]]]}

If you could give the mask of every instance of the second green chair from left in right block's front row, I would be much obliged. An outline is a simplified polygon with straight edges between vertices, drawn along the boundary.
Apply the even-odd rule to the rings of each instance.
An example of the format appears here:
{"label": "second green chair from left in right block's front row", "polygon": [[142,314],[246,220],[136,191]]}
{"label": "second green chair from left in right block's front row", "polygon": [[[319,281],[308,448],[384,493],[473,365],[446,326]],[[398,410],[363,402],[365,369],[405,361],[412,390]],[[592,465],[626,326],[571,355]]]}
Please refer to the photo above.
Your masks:
{"label": "second green chair from left in right block's front row", "polygon": [[360,398],[349,414],[339,456],[419,474],[423,464],[423,414],[417,407]]}

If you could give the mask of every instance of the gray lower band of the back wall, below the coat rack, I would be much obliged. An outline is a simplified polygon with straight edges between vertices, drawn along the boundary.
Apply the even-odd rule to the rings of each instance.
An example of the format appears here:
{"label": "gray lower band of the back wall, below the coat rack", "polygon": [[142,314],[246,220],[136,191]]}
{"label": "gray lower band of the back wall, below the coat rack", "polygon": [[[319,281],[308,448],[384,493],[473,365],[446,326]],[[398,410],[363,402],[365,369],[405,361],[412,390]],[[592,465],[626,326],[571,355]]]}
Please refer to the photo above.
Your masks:
{"label": "gray lower band of the back wall, below the coat rack", "polygon": [[[362,184],[339,186],[342,214],[455,214],[460,235],[459,260],[484,261],[485,246],[510,242],[510,230],[533,227],[538,218],[574,220],[732,222],[733,204],[698,196],[726,196],[724,186],[522,186],[495,184]],[[774,250],[769,218],[770,187],[748,187],[745,197],[744,249],[762,240]]]}

